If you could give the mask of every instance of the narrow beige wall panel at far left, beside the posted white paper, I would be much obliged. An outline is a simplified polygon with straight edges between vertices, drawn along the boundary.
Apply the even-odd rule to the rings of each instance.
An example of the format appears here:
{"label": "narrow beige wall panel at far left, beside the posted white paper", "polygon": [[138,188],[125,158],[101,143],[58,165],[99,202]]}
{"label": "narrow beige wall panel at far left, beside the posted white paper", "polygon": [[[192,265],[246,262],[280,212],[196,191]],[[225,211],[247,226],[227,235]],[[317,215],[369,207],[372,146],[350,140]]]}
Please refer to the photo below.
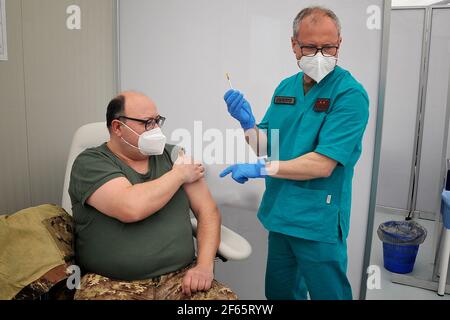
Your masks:
{"label": "narrow beige wall panel at far left, beside the posted white paper", "polygon": [[0,61],[0,214],[30,205],[22,8],[17,0],[5,3],[9,59]]}

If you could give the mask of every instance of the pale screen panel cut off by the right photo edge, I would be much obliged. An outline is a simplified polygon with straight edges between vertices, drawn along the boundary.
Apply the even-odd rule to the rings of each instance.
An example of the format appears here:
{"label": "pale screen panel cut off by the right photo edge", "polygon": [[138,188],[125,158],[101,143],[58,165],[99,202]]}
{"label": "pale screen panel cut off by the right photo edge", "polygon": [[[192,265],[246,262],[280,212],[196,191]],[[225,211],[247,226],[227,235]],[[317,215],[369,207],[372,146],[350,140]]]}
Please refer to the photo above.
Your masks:
{"label": "pale screen panel cut off by the right photo edge", "polygon": [[416,210],[438,213],[450,72],[450,8],[433,9]]}

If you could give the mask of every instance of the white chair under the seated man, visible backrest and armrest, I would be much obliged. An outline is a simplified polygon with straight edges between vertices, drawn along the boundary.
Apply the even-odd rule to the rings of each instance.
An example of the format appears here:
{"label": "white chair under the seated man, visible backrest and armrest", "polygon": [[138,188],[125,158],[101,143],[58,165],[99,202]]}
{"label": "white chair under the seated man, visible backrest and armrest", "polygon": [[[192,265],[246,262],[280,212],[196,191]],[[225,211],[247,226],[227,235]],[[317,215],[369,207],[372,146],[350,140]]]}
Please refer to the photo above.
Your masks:
{"label": "white chair under the seated man, visible backrest and armrest", "polygon": [[[64,188],[62,196],[62,207],[72,215],[72,203],[69,196],[69,181],[72,165],[77,156],[87,148],[100,146],[102,143],[109,141],[109,131],[106,122],[90,123],[82,126],[75,133],[72,146],[70,147],[69,158],[66,167],[66,176],[64,179]],[[206,168],[208,170],[208,168]],[[208,176],[207,179],[214,179]],[[219,179],[217,177],[217,179]],[[214,195],[213,195],[214,196]],[[193,234],[197,233],[197,220],[191,219]],[[221,226],[221,239],[217,256],[223,261],[227,260],[244,260],[250,256],[252,247],[246,239],[228,229]]]}

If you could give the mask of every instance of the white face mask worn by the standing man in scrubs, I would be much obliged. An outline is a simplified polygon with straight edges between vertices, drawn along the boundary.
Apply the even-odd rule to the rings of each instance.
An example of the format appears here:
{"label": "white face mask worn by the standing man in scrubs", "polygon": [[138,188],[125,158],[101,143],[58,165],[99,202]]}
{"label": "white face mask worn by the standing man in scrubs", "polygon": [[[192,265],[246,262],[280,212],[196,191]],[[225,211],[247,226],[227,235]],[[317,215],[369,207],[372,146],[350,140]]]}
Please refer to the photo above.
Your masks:
{"label": "white face mask worn by the standing man in scrubs", "polygon": [[336,68],[336,57],[325,57],[322,52],[318,52],[314,57],[303,56],[297,61],[303,72],[317,83],[320,83],[331,71]]}

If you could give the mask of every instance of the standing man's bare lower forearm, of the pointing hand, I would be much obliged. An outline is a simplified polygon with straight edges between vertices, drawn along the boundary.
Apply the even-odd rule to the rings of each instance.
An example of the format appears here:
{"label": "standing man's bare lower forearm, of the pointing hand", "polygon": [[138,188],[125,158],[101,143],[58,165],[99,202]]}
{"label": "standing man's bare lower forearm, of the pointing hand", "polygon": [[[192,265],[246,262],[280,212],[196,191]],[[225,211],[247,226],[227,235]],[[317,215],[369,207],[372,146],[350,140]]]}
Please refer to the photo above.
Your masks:
{"label": "standing man's bare lower forearm, of the pointing hand", "polygon": [[273,178],[306,181],[329,177],[336,165],[336,161],[312,152],[289,161],[271,161],[266,168]]}

